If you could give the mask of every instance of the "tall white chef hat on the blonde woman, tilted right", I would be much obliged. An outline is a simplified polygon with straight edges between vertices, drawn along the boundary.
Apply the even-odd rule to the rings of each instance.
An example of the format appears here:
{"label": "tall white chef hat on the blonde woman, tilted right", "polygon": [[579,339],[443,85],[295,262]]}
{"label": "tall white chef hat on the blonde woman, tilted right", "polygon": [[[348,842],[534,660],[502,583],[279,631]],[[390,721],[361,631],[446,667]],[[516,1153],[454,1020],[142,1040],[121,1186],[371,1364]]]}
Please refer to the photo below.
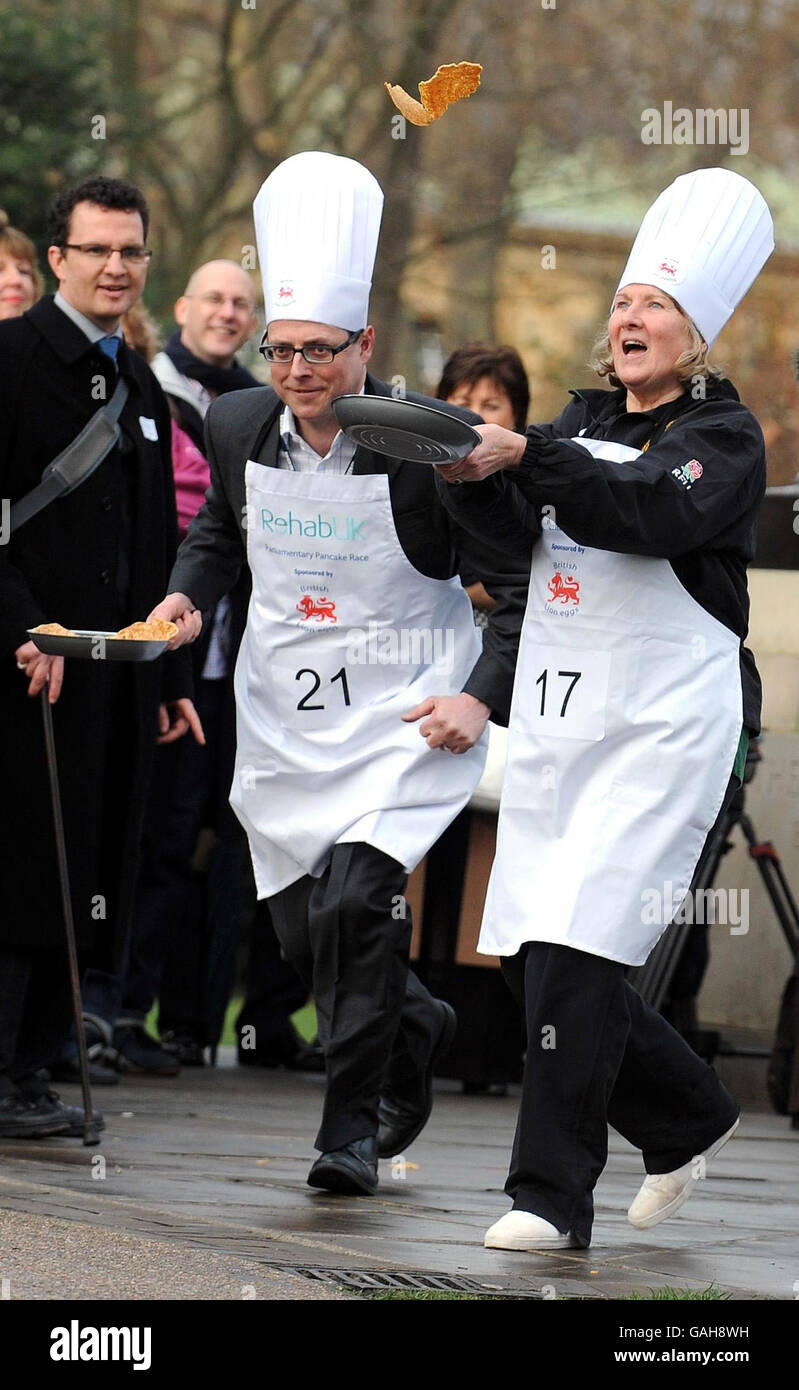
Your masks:
{"label": "tall white chef hat on the blonde woman, tilted right", "polygon": [[666,289],[710,346],[773,250],[774,224],[755,185],[731,170],[696,170],[656,197],[618,289]]}

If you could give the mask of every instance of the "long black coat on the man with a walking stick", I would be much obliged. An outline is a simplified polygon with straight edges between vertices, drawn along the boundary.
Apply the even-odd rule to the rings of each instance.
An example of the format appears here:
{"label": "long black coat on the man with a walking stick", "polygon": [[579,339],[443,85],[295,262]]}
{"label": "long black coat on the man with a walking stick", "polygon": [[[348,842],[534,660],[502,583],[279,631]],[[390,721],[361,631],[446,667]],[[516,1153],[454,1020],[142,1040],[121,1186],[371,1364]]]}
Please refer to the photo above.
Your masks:
{"label": "long black coat on the man with a walking stick", "polygon": [[[122,439],[92,477],[0,545],[3,783],[0,944],[64,940],[39,701],[14,652],[28,627],[115,631],[167,592],[176,550],[170,413],[149,367],[124,343]],[[0,496],[18,500],[113,395],[111,360],[50,296],[0,324]],[[149,439],[153,425],[157,439]],[[174,657],[179,657],[178,662]],[[67,660],[53,706],[75,926],[120,947],[129,917],[158,702],[190,695],[175,652],[121,666]]]}

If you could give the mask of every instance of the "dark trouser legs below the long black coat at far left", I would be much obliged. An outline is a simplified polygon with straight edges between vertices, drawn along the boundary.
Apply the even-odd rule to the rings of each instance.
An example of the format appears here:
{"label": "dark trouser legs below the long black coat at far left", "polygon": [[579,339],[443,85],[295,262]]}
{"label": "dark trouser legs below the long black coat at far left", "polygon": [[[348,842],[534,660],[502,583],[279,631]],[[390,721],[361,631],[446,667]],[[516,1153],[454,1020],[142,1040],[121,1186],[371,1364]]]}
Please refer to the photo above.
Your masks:
{"label": "dark trouser legs below the long black coat at far left", "polygon": [[0,1097],[46,1090],[36,1072],[72,1019],[65,948],[0,947]]}

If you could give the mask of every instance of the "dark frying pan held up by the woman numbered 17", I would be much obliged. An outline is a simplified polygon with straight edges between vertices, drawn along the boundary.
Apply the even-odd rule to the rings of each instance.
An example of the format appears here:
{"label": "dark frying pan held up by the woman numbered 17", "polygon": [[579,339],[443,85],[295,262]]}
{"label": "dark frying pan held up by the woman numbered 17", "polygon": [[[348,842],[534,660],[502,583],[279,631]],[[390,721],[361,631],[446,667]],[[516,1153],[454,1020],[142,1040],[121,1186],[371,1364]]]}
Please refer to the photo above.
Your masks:
{"label": "dark frying pan held up by the woman numbered 17", "polygon": [[481,442],[477,430],[446,410],[395,396],[336,396],[335,417],[364,449],[409,463],[457,463]]}

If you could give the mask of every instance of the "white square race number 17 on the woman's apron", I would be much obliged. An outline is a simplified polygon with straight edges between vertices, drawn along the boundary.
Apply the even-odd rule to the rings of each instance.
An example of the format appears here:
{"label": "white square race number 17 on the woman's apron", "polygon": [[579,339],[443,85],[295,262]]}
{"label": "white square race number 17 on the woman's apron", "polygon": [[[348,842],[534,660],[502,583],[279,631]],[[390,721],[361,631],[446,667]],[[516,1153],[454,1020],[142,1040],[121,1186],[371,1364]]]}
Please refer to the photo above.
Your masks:
{"label": "white square race number 17 on the woman's apron", "polygon": [[529,733],[604,738],[610,652],[535,646],[527,660],[524,720]]}

